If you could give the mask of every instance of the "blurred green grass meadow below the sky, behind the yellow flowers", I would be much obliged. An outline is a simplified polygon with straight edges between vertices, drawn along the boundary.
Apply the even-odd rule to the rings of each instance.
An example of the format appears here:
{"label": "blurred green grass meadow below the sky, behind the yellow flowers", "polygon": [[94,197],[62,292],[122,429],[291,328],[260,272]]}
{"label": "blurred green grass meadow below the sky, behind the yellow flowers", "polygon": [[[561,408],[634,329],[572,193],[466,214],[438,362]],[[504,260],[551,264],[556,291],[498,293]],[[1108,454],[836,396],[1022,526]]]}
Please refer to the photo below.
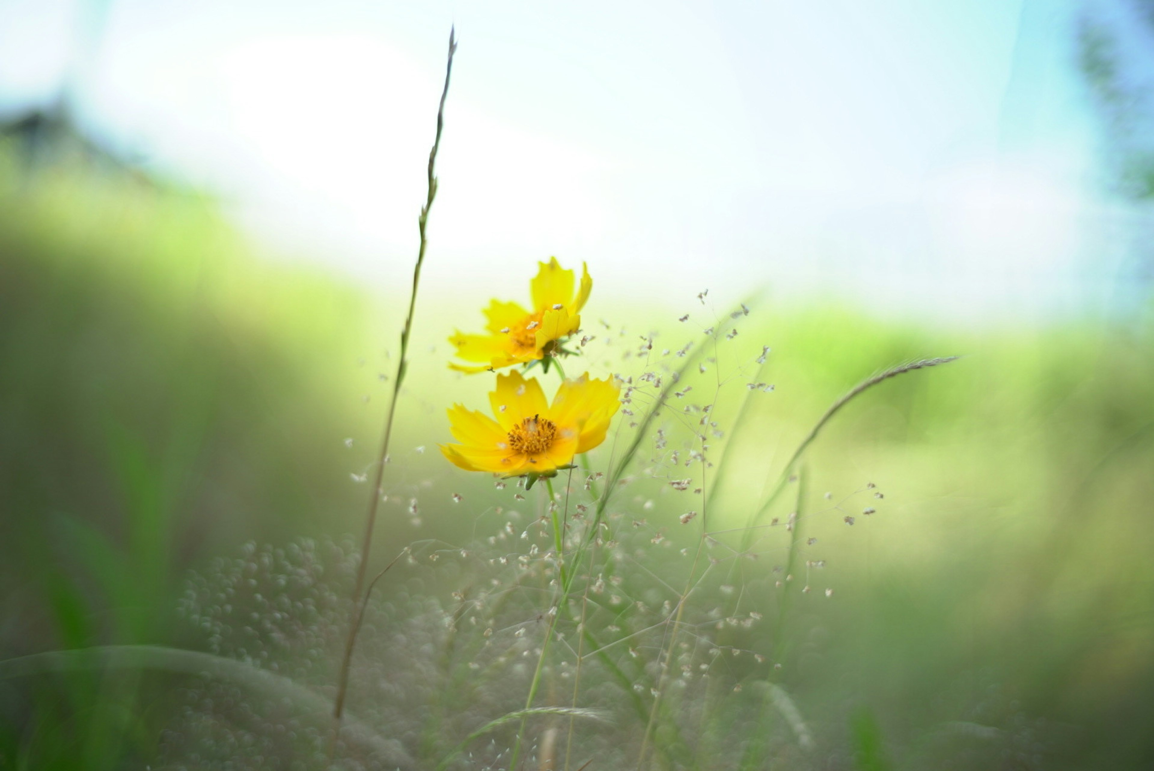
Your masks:
{"label": "blurred green grass meadow below the sky, behind the yellow flowers", "polygon": [[[275,589],[293,575],[294,539],[321,539],[317,548],[324,552],[330,537],[343,554],[354,551],[340,539],[360,531],[365,491],[350,474],[372,463],[391,385],[376,375],[389,372],[382,349],[396,339],[398,298],[374,298],[316,271],[265,264],[211,203],[196,197],[62,170],[22,180],[10,164],[0,180],[2,657],[113,644],[210,651],[207,630],[240,629],[237,614],[258,606],[253,592],[263,592],[270,604],[282,596],[295,600],[286,599],[285,617],[257,629],[252,643],[225,639],[213,653],[242,659],[240,648],[252,656],[264,651],[261,666],[275,661],[331,696],[325,683],[335,681],[334,661],[310,658],[309,651],[329,650],[330,637],[339,638],[346,617],[340,602],[352,574],[332,567],[302,584],[299,596],[291,584],[283,594],[262,587]],[[594,274],[609,269],[591,264]],[[428,308],[459,289],[422,292],[428,294],[419,308]],[[475,298],[475,305],[487,300]],[[605,300],[594,291],[594,317],[608,315],[609,306],[599,302]],[[682,309],[631,313],[660,331],[658,347],[676,349],[690,337],[676,322]],[[414,351],[451,332],[439,323],[444,322],[436,314],[419,310]],[[672,695],[655,712],[655,762],[1149,765],[1154,340],[1148,325],[1080,320],[959,331],[872,320],[852,308],[756,306],[742,323],[740,337],[719,343],[733,346],[732,355],[722,349],[729,358],[720,366],[733,372],[769,344],[773,352],[757,380],[777,389],[747,391],[750,369],[749,379],[735,379],[721,392],[713,417],[734,444],[707,480],[719,485],[711,531],[745,525],[814,421],[856,382],[912,358],[964,358],[871,389],[810,448],[800,499],[784,499],[769,514],[784,522],[790,510],[801,511],[797,532],[817,542],[799,547],[797,564],[824,560],[824,568],[810,568],[805,578],[796,570],[795,581],[778,589],[781,574],[772,568],[786,564],[790,537],[779,526],[766,529],[756,561],[721,560],[696,584],[688,611],[696,614],[694,623],[703,623],[713,607],[758,612],[763,620],[715,632],[714,642],[749,653],[726,654],[712,680]],[[622,343],[616,345],[594,346],[590,368],[636,372],[637,361],[621,359]],[[452,763],[466,763],[469,751],[481,757],[511,746],[537,663],[532,641],[539,646],[542,634],[534,616],[548,607],[544,561],[515,572],[456,554],[474,534],[486,556],[527,553],[538,542],[544,549],[553,536],[519,539],[541,506],[538,488],[516,501],[512,484],[497,491],[492,480],[449,466],[435,451],[436,442],[448,440],[443,407],[455,401],[480,406],[486,387],[444,376],[443,353],[442,345],[436,354],[414,358],[411,384],[400,396],[397,449],[387,472],[390,500],[375,559],[383,564],[417,539],[429,542],[414,549],[418,564],[398,563],[379,586],[350,695],[354,714],[373,731],[395,727],[397,734],[388,738],[404,747],[414,768],[436,765],[482,728],[484,736]],[[703,391],[705,385],[694,392],[698,403],[711,396]],[[754,401],[735,428],[747,396]],[[662,425],[668,450],[679,449],[684,429],[668,420]],[[346,437],[354,439],[351,449]],[[418,446],[428,451],[417,452]],[[610,450],[607,442],[593,454],[595,469],[607,467]],[[649,436],[629,474],[654,469],[672,477],[667,464],[651,463],[655,455]],[[676,473],[698,478],[692,470]],[[877,491],[885,497],[875,499]],[[796,487],[788,492],[794,496]],[[454,503],[451,493],[463,502]],[[624,557],[597,555],[592,563],[594,574],[606,582],[620,577],[621,591],[658,615],[670,597],[660,582],[681,590],[691,557],[677,552],[692,553],[700,533],[700,519],[677,523],[695,508],[685,495],[692,493],[676,493],[644,474],[632,480],[607,509],[622,515],[613,522],[622,527]],[[412,499],[420,526],[407,512]],[[500,515],[497,507],[504,509]],[[877,512],[862,515],[865,507]],[[510,509],[522,511],[517,532],[488,546],[485,538],[500,531]],[[847,515],[855,517],[853,526],[845,524]],[[640,519],[645,524],[634,529],[630,523]],[[652,545],[657,534],[672,546]],[[718,539],[733,545],[742,534]],[[201,602],[203,624],[178,613],[190,607],[181,605],[188,570],[197,571],[193,585],[208,597],[230,571],[242,570],[237,566],[249,559],[242,556],[249,540],[290,553],[269,552],[271,567],[254,574],[260,586],[237,584],[228,612],[218,600]],[[631,549],[642,549],[644,559],[629,559]],[[432,562],[429,554],[441,557]],[[474,627],[451,592],[481,597],[492,578],[517,589],[490,594],[487,613],[508,629],[487,638],[486,619]],[[812,591],[801,593],[802,581]],[[736,589],[726,594],[724,586]],[[826,589],[833,590],[829,598]],[[575,584],[574,597],[584,598],[583,592],[584,584]],[[292,602],[307,598],[313,605],[300,608],[313,607],[316,615],[305,623],[306,611]],[[457,614],[456,628],[445,628],[442,607]],[[605,607],[591,616],[597,622],[583,637],[585,651],[612,635]],[[261,611],[276,612],[272,605]],[[630,623],[644,626],[645,613],[625,614],[617,623],[627,631]],[[298,617],[301,623],[293,626]],[[571,631],[575,621],[559,623]],[[524,637],[514,637],[514,624],[524,626]],[[700,630],[704,638],[705,627]],[[567,639],[576,646],[576,636]],[[575,721],[576,746],[600,748],[590,768],[636,765],[657,651],[669,644],[664,635],[637,639],[653,645],[634,645],[634,656],[622,644],[583,664],[577,706],[612,720],[609,728]],[[537,706],[569,706],[572,680],[562,679],[560,663],[571,667],[575,659],[565,644],[550,650],[556,658],[545,668]],[[518,658],[524,651],[529,658]],[[757,663],[755,651],[766,663]],[[694,660],[697,666],[710,654],[703,648],[695,656],[704,657]],[[392,684],[380,684],[376,675]],[[642,693],[634,690],[637,683],[644,684]],[[742,688],[734,691],[737,684]],[[223,681],[190,684],[185,674],[155,668],[112,676],[93,665],[0,680],[0,768],[148,762],[157,768],[158,761],[179,764],[180,753],[194,746],[202,754],[212,747],[238,756],[256,751],[246,747],[263,747],[264,728],[230,733],[202,713],[182,712],[189,694],[210,693],[220,725],[241,725],[235,710],[245,704],[279,716],[276,720],[300,720],[300,757],[309,757],[312,724],[280,714],[275,699],[253,695],[248,703],[242,689],[228,691]],[[226,702],[231,706],[223,706]],[[790,706],[816,749],[802,746]],[[532,742],[556,728],[563,751],[568,718],[530,717]],[[310,719],[324,725],[322,717]],[[253,743],[240,741],[242,734]],[[599,744],[598,736],[616,744]],[[493,749],[486,749],[490,740]],[[620,755],[613,754],[617,749]],[[211,768],[211,754],[204,756]],[[575,749],[571,768],[586,759]]]}

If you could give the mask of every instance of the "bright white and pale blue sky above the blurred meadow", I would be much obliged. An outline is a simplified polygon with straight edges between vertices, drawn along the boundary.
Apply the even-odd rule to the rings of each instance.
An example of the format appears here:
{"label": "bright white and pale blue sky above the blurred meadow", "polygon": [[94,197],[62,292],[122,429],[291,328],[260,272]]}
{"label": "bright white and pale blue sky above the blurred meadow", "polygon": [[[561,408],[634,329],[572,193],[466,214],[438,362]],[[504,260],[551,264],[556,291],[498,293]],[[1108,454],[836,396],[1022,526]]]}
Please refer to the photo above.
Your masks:
{"label": "bright white and pale blue sky above the blurred meadow", "polygon": [[1037,316],[1108,301],[1133,216],[1099,192],[1080,7],[0,0],[0,111],[70,72],[92,130],[388,290],[456,23],[430,284],[507,294],[555,254],[617,301]]}

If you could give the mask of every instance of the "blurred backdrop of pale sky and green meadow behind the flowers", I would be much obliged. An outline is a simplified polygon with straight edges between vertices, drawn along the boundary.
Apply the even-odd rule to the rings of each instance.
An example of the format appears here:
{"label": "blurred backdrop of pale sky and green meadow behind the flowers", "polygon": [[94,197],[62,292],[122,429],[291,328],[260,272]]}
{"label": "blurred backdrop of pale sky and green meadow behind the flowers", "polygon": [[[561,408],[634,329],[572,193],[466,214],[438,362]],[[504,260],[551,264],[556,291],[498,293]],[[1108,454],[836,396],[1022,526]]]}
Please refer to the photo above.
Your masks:
{"label": "blurred backdrop of pale sky and green meadow behind the flowers", "polygon": [[[571,375],[636,377],[755,290],[594,571],[649,606],[602,639],[668,613],[705,519],[666,484],[702,484],[675,410],[715,395],[684,638],[717,664],[658,765],[1154,768],[1149,0],[617,6],[0,5],[0,771],[325,768],[450,17],[472,59],[370,567],[413,556],[354,660],[375,755],[339,768],[433,768],[524,703],[544,499],[436,444],[489,384],[448,336],[553,249],[594,277]],[[780,526],[726,552],[834,399],[951,354],[825,427],[766,512],[803,514],[793,562]],[[590,769],[634,768],[654,634],[589,657]]]}

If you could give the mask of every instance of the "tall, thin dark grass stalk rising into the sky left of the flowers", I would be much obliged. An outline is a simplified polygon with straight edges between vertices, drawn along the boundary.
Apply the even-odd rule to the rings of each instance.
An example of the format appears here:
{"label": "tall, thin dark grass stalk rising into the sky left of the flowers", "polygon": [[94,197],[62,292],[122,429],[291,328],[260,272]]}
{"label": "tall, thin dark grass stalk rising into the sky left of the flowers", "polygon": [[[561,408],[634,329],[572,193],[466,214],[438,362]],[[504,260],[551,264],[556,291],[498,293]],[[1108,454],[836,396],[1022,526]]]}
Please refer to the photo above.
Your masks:
{"label": "tall, thin dark grass stalk rising into the sky left of the flowers", "polygon": [[[436,113],[436,139],[433,141],[433,149],[429,151],[428,164],[428,193],[425,205],[421,207],[421,216],[418,219],[421,242],[417,253],[417,265],[413,269],[413,289],[409,297],[409,314],[405,316],[405,325],[400,330],[400,357],[397,361],[397,373],[392,379],[392,398],[389,402],[389,412],[384,420],[384,435],[381,440],[381,451],[376,459],[373,487],[369,491],[368,514],[365,518],[365,536],[361,540],[360,562],[357,566],[357,578],[353,583],[353,608],[349,624],[349,635],[345,638],[345,651],[340,660],[340,674],[337,681],[337,696],[332,706],[332,741],[329,748],[330,763],[336,753],[337,738],[340,732],[340,717],[344,713],[345,696],[349,693],[349,668],[352,661],[353,646],[357,643],[357,632],[360,630],[361,620],[365,616],[365,604],[368,593],[365,592],[365,575],[368,569],[369,551],[373,545],[373,527],[376,524],[376,510],[380,503],[382,489],[381,481],[384,477],[384,465],[389,458],[389,442],[392,437],[392,424],[397,412],[397,398],[400,396],[400,385],[404,383],[409,360],[409,342],[413,328],[413,310],[417,307],[417,290],[421,279],[421,265],[425,263],[425,250],[428,246],[426,227],[428,225],[429,209],[433,208],[433,200],[436,197],[436,155],[441,147],[441,132],[444,127],[444,102],[449,96],[449,77],[452,74],[452,55],[457,51],[456,31],[449,31],[449,58],[445,65],[444,88],[441,91],[441,103]],[[391,563],[390,563],[391,567]],[[388,569],[388,568],[385,568]]]}

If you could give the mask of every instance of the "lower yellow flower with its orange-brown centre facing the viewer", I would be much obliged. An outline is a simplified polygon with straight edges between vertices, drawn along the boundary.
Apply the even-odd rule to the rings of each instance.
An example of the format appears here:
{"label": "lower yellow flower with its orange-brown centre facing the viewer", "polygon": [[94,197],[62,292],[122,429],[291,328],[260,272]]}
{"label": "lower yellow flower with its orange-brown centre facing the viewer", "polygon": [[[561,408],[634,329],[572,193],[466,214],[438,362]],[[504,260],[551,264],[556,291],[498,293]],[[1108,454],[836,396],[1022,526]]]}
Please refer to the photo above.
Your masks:
{"label": "lower yellow flower with its orange-brown centre facing the viewer", "polygon": [[605,441],[621,406],[620,390],[609,379],[590,380],[585,373],[563,382],[550,405],[535,377],[497,375],[497,388],[489,394],[496,420],[454,405],[449,424],[460,444],[442,444],[441,451],[466,471],[547,476]]}

